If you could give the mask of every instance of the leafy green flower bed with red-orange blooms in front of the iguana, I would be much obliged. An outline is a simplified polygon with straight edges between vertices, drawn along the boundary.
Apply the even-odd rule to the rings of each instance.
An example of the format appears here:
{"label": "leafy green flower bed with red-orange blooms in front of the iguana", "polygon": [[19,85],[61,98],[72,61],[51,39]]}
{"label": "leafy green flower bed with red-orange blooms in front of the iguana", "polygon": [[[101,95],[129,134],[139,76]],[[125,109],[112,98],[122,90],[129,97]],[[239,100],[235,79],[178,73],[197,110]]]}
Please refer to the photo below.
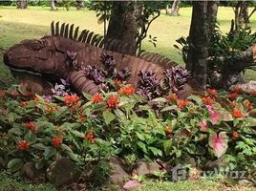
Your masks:
{"label": "leafy green flower bed with red-orange blooms in front of the iguana", "polygon": [[12,172],[27,161],[47,168],[65,156],[84,167],[116,153],[128,164],[193,158],[203,168],[222,158],[234,169],[255,171],[256,96],[208,89],[203,96],[148,101],[131,85],[119,86],[95,96],[55,95],[54,101],[1,91],[0,165]]}

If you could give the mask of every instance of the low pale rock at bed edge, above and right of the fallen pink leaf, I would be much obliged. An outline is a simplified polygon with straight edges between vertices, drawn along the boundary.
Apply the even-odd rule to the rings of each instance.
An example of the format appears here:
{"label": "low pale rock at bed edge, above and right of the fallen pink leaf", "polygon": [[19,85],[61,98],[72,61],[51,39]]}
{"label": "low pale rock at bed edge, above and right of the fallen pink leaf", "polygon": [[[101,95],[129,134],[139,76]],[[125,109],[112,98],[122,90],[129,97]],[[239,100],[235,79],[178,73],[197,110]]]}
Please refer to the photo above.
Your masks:
{"label": "low pale rock at bed edge, above and right of the fallen pink leaf", "polygon": [[138,176],[152,176],[156,172],[160,172],[160,165],[156,161],[139,160],[136,164]]}

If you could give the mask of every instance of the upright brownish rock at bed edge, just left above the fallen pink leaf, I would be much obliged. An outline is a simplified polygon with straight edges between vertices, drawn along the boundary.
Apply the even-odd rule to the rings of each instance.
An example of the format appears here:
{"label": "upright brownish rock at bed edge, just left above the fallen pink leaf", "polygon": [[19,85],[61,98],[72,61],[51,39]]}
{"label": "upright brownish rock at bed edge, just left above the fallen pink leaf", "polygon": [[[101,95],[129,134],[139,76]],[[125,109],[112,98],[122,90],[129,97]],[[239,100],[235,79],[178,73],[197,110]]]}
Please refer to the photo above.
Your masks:
{"label": "upright brownish rock at bed edge, just left above the fallen pink leaf", "polygon": [[121,162],[121,159],[119,159],[117,156],[112,156],[110,158],[110,176],[109,180],[110,183],[117,184],[117,185],[123,185],[123,181],[129,177],[129,175],[125,172],[123,169],[123,164]]}

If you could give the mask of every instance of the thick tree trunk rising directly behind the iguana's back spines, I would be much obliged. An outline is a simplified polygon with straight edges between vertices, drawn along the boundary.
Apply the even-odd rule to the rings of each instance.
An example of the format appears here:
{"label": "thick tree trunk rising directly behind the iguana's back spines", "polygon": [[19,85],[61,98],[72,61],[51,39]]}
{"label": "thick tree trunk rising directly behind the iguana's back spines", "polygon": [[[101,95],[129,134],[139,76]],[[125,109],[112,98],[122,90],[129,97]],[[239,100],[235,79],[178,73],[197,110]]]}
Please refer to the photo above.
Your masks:
{"label": "thick tree trunk rising directly behind the iguana's back spines", "polygon": [[109,21],[107,38],[128,42],[127,54],[136,53],[136,38],[139,28],[139,5],[131,1],[113,2],[113,10]]}

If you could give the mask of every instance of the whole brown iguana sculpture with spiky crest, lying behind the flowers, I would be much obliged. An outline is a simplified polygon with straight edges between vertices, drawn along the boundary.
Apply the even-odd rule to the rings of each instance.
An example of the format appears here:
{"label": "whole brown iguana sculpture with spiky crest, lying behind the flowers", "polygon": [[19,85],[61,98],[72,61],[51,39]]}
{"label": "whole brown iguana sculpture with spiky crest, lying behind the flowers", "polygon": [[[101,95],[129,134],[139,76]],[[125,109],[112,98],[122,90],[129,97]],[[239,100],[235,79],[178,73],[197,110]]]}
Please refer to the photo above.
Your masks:
{"label": "whole brown iguana sculpture with spiky crest, lying behind the flowers", "polygon": [[[73,25],[52,23],[52,36],[24,40],[4,54],[4,62],[11,71],[40,75],[37,84],[56,82],[70,77],[72,87],[78,92],[94,95],[100,87],[88,77],[86,69],[102,67],[102,54],[115,60],[117,71],[128,70],[126,82],[139,88],[139,74],[154,74],[158,86],[180,97],[186,97],[191,90],[190,75],[170,59],[158,53],[141,53],[139,57],[124,54],[128,43],[116,39],[105,40],[94,32],[82,31]],[[88,70],[87,70],[88,72]],[[35,82],[35,79],[33,79]]]}

